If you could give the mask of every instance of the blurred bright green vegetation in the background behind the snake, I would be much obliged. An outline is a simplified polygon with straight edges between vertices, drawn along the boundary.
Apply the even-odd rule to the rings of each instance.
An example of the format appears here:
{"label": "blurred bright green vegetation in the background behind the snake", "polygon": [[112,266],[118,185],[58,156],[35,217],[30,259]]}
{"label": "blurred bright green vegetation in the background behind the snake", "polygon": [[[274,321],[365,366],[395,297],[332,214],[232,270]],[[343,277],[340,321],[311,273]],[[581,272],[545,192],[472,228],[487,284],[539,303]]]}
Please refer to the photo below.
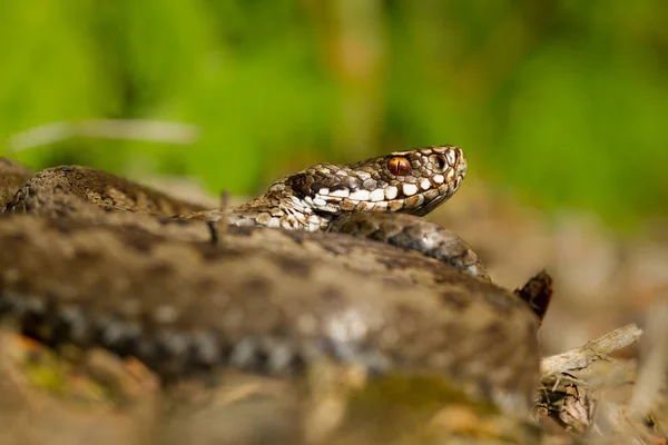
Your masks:
{"label": "blurred bright green vegetation in the background behind the snake", "polygon": [[[666,17],[664,0],[3,1],[0,155],[252,194],[316,161],[455,144],[471,176],[628,227],[667,214]],[[17,144],[118,118],[199,132]]]}

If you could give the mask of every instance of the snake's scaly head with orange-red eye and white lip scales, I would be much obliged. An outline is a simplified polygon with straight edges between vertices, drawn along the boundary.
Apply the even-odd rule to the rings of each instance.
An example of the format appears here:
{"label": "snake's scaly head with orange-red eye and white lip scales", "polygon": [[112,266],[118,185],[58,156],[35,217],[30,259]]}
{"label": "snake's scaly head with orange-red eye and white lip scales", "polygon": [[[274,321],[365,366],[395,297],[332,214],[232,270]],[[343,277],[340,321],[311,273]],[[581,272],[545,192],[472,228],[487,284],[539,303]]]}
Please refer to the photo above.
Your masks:
{"label": "snake's scaly head with orange-red eye and white lip scales", "polygon": [[465,172],[460,148],[433,146],[352,165],[318,164],[275,182],[271,190],[316,212],[425,215],[454,195]]}

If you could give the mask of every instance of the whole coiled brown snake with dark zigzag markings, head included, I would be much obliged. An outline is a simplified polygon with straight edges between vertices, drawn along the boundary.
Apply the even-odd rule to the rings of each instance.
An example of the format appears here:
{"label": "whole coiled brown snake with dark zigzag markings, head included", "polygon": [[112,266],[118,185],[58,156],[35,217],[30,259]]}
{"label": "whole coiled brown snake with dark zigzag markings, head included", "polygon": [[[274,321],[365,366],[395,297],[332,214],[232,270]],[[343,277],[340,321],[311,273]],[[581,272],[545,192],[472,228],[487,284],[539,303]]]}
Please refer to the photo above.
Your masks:
{"label": "whole coiled brown snake with dark zigzag markings, head included", "polygon": [[132,355],[165,379],[334,359],[531,406],[538,317],[420,218],[459,189],[456,147],[320,164],[214,210],[85,167],[0,168],[18,189],[2,195],[0,318],[48,345]]}

